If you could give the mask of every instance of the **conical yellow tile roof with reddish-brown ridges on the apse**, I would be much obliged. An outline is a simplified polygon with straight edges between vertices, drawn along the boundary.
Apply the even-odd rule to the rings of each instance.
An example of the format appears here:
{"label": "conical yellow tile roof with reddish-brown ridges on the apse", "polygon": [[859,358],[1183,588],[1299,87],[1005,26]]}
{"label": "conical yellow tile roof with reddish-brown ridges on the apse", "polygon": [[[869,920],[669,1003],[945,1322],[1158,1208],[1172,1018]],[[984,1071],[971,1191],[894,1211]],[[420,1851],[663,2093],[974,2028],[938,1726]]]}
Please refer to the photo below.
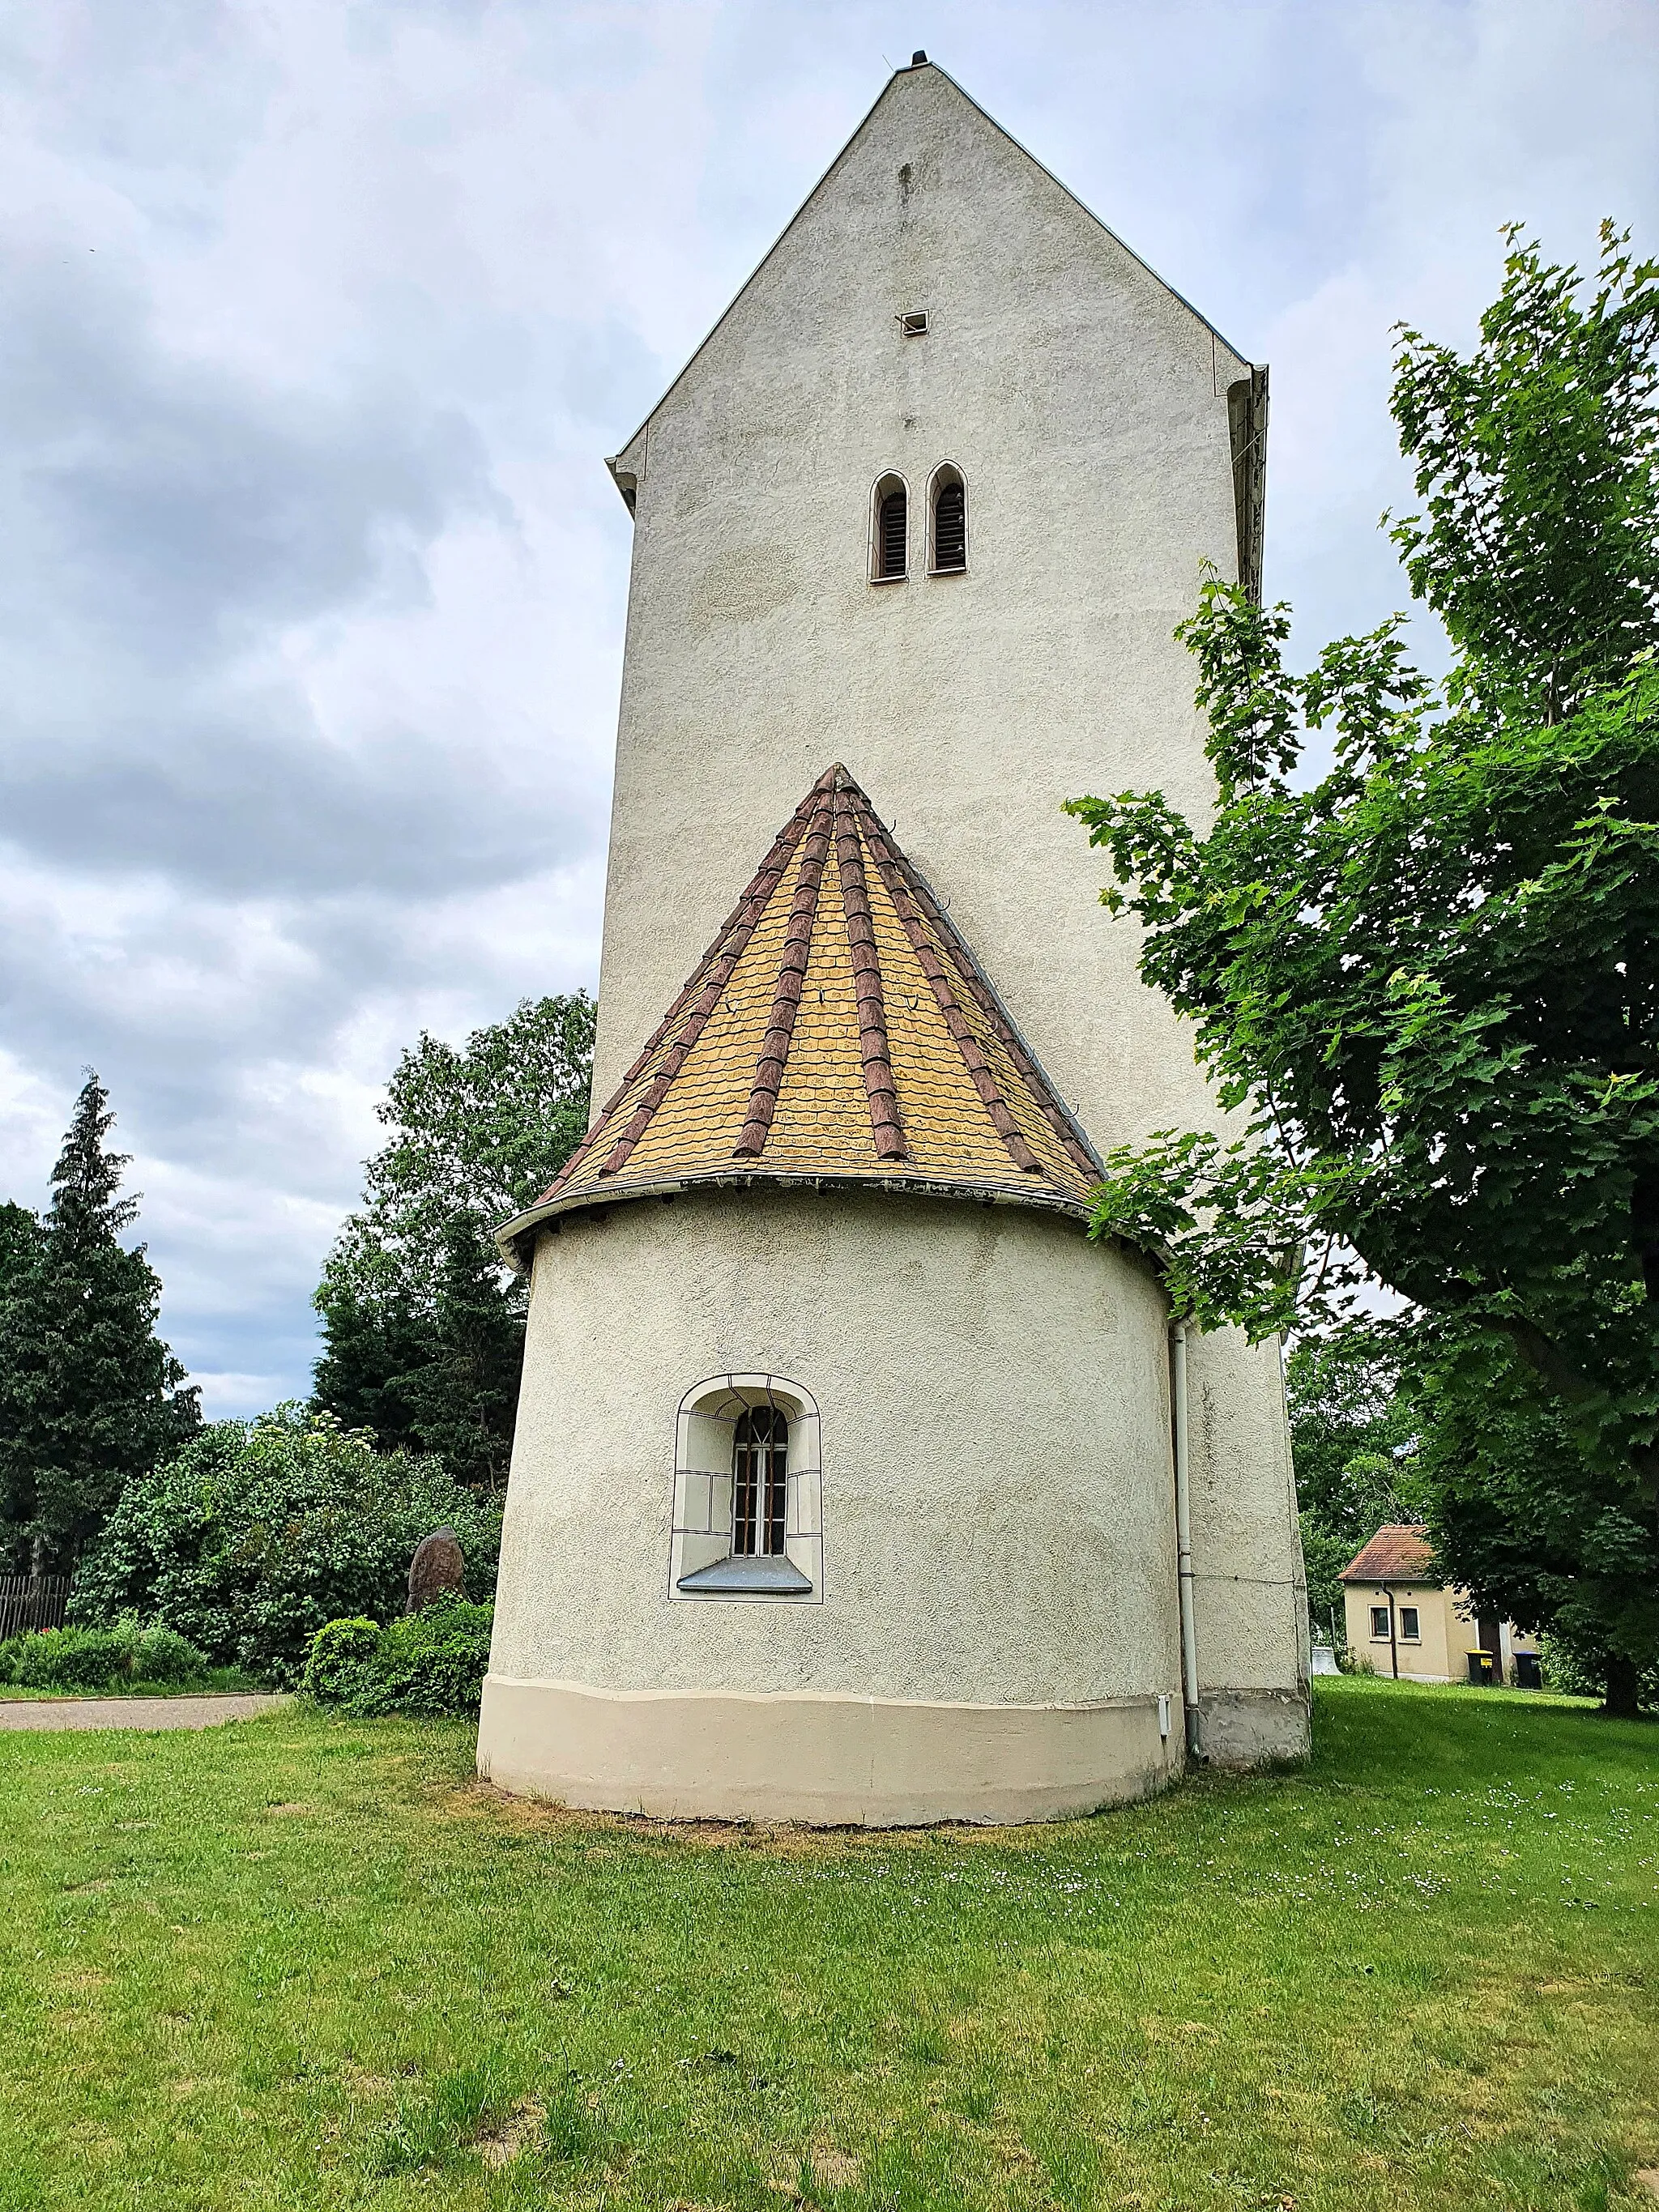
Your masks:
{"label": "conical yellow tile roof with reddish-brown ridges on the apse", "polygon": [[841,765],[502,1248],[580,1206],[759,1181],[1073,1214],[1099,1181],[973,953]]}

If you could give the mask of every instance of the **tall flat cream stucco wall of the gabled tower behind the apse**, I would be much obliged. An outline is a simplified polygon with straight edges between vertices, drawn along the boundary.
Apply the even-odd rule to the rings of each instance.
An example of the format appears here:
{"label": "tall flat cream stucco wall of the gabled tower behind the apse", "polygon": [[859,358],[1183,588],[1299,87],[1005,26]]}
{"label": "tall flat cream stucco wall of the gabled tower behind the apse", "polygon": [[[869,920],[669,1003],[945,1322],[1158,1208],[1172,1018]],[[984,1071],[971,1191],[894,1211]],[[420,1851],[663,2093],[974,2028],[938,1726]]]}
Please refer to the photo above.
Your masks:
{"label": "tall flat cream stucco wall of the gabled tower behind the apse", "polygon": [[[911,307],[927,338],[900,336]],[[1201,560],[1234,573],[1239,374],[949,80],[894,80],[619,456],[637,535],[595,1102],[843,759],[1097,1146],[1212,1119],[1190,1037],[1139,982],[1130,925],[1097,905],[1104,863],[1060,803],[1126,785],[1194,816],[1210,803],[1170,633]],[[971,566],[953,577],[922,573],[940,460],[969,487]],[[911,577],[872,586],[869,491],[889,469],[911,487]],[[865,1290],[845,1279],[849,1310]],[[1194,1376],[1203,1672],[1294,1699],[1305,1606],[1276,1352],[1212,1338]],[[526,1420],[546,1436],[531,1396]],[[821,1635],[827,1659],[827,1615]],[[975,1650],[964,1624],[956,1657]],[[1248,1754],[1230,1725],[1219,1714],[1217,1741]]]}

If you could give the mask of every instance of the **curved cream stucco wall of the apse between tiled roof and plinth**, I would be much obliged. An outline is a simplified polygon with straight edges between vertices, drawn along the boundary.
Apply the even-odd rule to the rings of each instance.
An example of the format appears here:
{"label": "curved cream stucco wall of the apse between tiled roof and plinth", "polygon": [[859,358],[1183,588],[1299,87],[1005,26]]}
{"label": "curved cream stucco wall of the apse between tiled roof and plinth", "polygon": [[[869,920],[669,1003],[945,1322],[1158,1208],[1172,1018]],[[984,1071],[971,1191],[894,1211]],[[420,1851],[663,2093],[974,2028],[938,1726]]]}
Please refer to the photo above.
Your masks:
{"label": "curved cream stucco wall of the apse between tiled roof and plinth", "polygon": [[[818,1407],[823,1601],[670,1597],[675,1420]],[[1175,1694],[1164,1298],[1018,1208],[701,1194],[535,1261],[491,1677],[989,1705]],[[487,1750],[487,1745],[484,1745]]]}

